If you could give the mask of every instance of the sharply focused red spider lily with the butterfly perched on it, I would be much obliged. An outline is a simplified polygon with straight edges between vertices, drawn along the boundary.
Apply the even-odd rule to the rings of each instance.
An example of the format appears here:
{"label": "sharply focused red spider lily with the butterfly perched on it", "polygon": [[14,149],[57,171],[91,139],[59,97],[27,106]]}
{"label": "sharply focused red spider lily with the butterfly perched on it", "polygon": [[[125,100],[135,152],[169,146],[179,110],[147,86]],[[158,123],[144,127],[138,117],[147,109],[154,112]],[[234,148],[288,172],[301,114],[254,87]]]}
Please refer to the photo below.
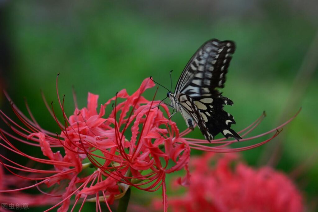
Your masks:
{"label": "sharply focused red spider lily with the butterfly perched on it", "polygon": [[[211,147],[206,140],[185,138],[190,129],[179,133],[176,123],[167,118],[170,113],[166,105],[162,105],[163,111],[161,111],[155,107],[159,101],[149,101],[142,96],[146,89],[154,85],[151,80],[145,79],[132,95],[122,90],[105,104],[100,105],[99,112],[97,112],[98,95],[89,93],[87,107],[79,110],[75,103],[75,111],[69,118],[64,112],[64,98],[62,101],[59,99],[56,85],[64,122],[58,120],[53,104],[50,108],[45,98],[44,101],[61,129],[60,134],[48,132],[40,127],[26,104],[30,119],[27,118],[6,94],[13,112],[24,127],[0,111],[0,117],[13,131],[10,133],[1,130],[0,139],[3,142],[0,145],[27,160],[37,162],[38,167],[42,165],[42,167],[51,166],[51,168],[30,168],[0,155],[4,159],[1,161],[4,168],[13,175],[35,181],[31,186],[0,192],[38,188],[42,193],[60,198],[60,202],[47,211],[60,205],[59,211],[67,211],[72,196],[75,196],[75,201],[71,211],[79,202],[81,202],[79,210],[85,202],[96,202],[96,211],[98,211],[101,210],[100,202],[105,202],[107,208],[111,210],[109,204],[124,196],[130,187],[145,191],[156,191],[162,188],[166,211],[166,174],[183,168],[187,170],[190,148],[213,152],[243,151],[268,142],[280,132],[274,129],[258,136],[242,139],[240,141],[251,140],[275,132],[270,139],[263,142],[233,149],[229,149],[228,145],[236,142],[234,140],[214,140],[212,143],[218,146]],[[112,101],[115,102],[112,112],[107,118],[103,118],[106,107]],[[241,137],[250,133],[263,118],[264,115],[242,130],[240,133],[245,133],[241,134]],[[128,132],[131,132],[131,135],[128,135]],[[45,158],[25,154],[10,140],[40,147]],[[53,148],[63,151],[53,151]],[[168,165],[171,164],[169,161],[173,162],[172,166]],[[180,180],[182,183],[187,181],[188,177]],[[47,191],[44,192],[42,189]]]}

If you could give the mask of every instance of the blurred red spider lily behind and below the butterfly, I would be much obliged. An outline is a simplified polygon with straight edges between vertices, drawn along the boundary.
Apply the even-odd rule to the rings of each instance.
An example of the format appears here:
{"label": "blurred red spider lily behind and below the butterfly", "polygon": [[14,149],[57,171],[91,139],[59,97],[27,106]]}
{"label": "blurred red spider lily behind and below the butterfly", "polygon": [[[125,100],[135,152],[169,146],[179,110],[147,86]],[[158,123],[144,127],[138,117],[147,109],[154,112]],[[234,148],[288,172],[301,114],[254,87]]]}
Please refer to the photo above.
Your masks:
{"label": "blurred red spider lily behind and below the butterfly", "polygon": [[[207,153],[190,161],[191,183],[180,197],[170,197],[174,212],[301,212],[303,201],[293,182],[270,167],[253,169],[238,154]],[[211,162],[216,162],[211,168]],[[161,204],[154,202],[157,208]]]}

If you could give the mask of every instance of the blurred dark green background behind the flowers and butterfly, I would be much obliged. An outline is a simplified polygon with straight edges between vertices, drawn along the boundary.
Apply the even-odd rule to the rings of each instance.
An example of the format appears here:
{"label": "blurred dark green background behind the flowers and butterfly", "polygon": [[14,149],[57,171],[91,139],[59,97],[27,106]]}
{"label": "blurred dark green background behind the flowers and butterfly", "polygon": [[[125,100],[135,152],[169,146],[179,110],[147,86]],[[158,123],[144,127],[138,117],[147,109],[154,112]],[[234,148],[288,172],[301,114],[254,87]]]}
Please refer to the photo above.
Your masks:
{"label": "blurred dark green background behind the flowers and butterfly", "polygon": [[[174,70],[174,87],[202,43],[211,38],[233,40],[237,50],[223,92],[235,103],[226,107],[237,122],[234,129],[246,127],[265,110],[267,117],[254,134],[266,132],[302,107],[283,134],[242,153],[243,158],[252,166],[269,164],[290,174],[304,195],[307,211],[316,211],[317,11],[317,1],[299,0],[1,0],[0,87],[22,111],[26,111],[25,97],[38,122],[55,132],[58,127],[40,90],[49,102],[56,101],[58,72],[59,91],[66,95],[66,114],[71,115],[72,86],[80,107],[86,106],[87,92],[99,94],[104,103],[123,88],[133,93],[149,76],[170,87],[170,70]],[[146,96],[150,99],[154,92]],[[166,90],[159,87],[156,99],[165,96]],[[2,93],[0,104],[13,116]],[[180,114],[173,120],[181,130],[186,128]],[[198,129],[190,136],[203,138]],[[300,166],[304,169],[295,172]],[[168,179],[179,175],[183,173]],[[132,203],[147,207],[160,196],[160,189],[156,193],[133,189]],[[86,209],[90,210],[89,204]]]}

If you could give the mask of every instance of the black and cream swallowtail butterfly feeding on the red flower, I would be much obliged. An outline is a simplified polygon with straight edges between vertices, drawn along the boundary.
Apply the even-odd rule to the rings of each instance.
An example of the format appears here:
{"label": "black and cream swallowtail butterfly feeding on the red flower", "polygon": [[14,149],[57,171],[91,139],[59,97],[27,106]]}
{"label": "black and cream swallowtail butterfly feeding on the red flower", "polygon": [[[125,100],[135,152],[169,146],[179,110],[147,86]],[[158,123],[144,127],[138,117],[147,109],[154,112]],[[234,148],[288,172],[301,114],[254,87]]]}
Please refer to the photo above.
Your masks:
{"label": "black and cream swallowtail butterfly feeding on the red flower", "polygon": [[233,41],[205,42],[185,66],[175,92],[167,93],[171,106],[181,112],[187,126],[193,130],[197,124],[210,142],[218,133],[226,138],[241,139],[231,129],[235,124],[233,116],[223,110],[224,105],[233,105],[233,102],[217,90],[224,87],[234,51]]}

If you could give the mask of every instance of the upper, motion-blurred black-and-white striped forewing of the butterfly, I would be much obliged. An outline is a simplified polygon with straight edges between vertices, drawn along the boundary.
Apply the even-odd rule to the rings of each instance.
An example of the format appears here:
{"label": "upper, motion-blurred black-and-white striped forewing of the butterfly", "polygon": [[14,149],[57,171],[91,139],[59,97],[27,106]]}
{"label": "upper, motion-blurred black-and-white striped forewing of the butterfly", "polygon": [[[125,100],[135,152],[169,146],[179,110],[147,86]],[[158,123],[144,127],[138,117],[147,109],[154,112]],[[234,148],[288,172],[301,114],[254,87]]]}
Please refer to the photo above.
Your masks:
{"label": "upper, motion-blurred black-and-white striped forewing of the butterfly", "polygon": [[225,75],[235,51],[232,41],[212,39],[204,43],[186,65],[176,86],[176,93],[209,96],[223,88]]}

